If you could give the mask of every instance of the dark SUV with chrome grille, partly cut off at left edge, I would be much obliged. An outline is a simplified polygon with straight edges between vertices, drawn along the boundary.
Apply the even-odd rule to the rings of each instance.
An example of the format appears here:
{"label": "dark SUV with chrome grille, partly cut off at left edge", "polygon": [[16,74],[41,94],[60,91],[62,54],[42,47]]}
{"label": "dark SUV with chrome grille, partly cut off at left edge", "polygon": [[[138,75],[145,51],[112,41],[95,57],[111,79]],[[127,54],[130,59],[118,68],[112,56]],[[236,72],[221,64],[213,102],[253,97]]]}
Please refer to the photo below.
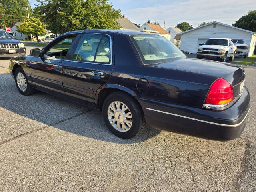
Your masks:
{"label": "dark SUV with chrome grille, partly cut off at left edge", "polygon": [[5,30],[0,30],[0,57],[16,57],[26,55],[25,45],[13,39]]}

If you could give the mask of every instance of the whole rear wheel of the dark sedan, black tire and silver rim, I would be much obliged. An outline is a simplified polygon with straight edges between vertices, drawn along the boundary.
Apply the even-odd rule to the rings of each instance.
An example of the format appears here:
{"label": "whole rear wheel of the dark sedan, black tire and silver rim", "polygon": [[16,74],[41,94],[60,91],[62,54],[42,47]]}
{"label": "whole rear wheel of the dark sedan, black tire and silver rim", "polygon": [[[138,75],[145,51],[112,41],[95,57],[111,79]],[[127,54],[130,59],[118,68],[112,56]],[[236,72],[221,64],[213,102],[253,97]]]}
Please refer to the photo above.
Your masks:
{"label": "whole rear wheel of the dark sedan, black tire and silver rim", "polygon": [[104,100],[102,113],[108,129],[123,139],[133,138],[145,126],[142,108],[135,98],[123,92],[110,94]]}

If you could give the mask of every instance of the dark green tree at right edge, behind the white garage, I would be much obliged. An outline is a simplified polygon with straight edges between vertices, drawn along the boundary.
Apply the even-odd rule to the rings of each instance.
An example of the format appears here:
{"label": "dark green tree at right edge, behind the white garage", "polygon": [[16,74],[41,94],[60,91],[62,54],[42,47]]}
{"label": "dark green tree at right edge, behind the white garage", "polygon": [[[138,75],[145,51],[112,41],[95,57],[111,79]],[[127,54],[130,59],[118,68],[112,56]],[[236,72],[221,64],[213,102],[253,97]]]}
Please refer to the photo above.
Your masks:
{"label": "dark green tree at right edge, behind the white garage", "polygon": [[247,15],[240,17],[233,26],[256,32],[256,10],[249,11]]}

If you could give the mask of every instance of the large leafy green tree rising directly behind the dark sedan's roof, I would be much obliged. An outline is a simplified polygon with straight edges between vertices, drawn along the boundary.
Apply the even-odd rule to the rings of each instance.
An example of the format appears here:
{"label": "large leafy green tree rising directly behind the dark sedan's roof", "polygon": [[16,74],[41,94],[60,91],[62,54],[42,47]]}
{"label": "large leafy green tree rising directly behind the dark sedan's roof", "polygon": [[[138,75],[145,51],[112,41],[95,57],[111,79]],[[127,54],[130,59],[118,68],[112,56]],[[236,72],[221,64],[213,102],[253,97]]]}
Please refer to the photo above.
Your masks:
{"label": "large leafy green tree rising directly behind the dark sedan's roof", "polygon": [[42,22],[54,34],[86,29],[119,29],[121,17],[108,0],[37,0]]}

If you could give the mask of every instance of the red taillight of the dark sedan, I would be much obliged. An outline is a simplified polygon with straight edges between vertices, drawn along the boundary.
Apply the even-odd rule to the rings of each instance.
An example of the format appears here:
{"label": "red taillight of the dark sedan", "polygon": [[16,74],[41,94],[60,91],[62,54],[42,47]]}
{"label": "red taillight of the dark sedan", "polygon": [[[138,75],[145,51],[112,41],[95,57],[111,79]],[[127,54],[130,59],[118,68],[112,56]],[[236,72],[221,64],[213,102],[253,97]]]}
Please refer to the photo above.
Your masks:
{"label": "red taillight of the dark sedan", "polygon": [[217,79],[208,92],[205,104],[224,105],[233,100],[233,88],[224,79]]}

